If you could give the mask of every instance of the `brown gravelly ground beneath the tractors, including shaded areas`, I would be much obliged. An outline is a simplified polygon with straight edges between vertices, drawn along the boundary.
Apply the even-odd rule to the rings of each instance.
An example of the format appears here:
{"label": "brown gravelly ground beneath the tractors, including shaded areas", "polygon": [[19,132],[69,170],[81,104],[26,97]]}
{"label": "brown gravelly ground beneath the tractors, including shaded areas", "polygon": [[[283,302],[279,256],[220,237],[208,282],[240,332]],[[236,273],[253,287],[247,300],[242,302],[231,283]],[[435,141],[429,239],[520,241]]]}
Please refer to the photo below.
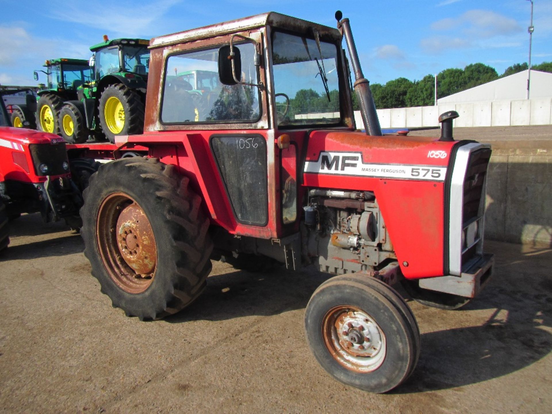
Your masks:
{"label": "brown gravelly ground beneath the tractors, including shaded areas", "polygon": [[0,258],[0,410],[549,412],[552,250],[486,246],[495,276],[462,310],[408,302],[420,362],[371,395],[330,378],[307,347],[304,308],[328,275],[214,262],[192,306],[140,322],[100,293],[80,236],[24,215]]}

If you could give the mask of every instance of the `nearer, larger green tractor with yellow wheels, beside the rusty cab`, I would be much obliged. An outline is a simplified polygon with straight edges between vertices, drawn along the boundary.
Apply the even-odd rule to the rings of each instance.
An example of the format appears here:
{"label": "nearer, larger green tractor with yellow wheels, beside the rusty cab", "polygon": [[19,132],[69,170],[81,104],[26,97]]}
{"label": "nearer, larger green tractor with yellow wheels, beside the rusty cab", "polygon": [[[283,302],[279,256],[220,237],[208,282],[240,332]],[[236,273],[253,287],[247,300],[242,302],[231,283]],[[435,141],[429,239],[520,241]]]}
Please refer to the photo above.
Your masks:
{"label": "nearer, larger green tractor with yellow wheels, beside the rusty cab", "polygon": [[104,36],[90,48],[91,82],[79,86],[77,100],[65,102],[60,110],[61,135],[67,142],[84,142],[89,135],[115,142],[115,135],[144,130],[149,44]]}

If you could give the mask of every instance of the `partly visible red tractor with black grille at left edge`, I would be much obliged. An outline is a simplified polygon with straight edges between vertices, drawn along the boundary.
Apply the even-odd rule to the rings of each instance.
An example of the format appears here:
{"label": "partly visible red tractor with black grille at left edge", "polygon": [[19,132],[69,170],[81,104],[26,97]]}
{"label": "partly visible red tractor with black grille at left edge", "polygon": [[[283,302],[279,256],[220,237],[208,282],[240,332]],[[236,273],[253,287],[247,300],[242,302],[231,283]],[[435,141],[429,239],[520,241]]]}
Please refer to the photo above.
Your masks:
{"label": "partly visible red tractor with black grille at left edge", "polygon": [[65,141],[47,132],[14,128],[0,102],[0,251],[9,244],[8,219],[22,213],[40,212],[46,222],[65,219],[79,229],[81,190],[71,179]]}

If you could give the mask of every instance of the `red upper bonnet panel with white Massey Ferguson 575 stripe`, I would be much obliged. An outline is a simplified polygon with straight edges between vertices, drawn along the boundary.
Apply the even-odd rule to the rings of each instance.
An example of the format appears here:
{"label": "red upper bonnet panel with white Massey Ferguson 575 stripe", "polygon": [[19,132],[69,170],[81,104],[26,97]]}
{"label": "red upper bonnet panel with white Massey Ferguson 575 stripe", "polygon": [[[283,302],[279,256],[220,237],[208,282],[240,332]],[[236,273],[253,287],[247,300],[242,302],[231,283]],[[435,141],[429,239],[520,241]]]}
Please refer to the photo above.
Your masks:
{"label": "red upper bonnet panel with white Massey Ferguson 575 stripe", "polygon": [[320,175],[444,182],[450,152],[457,143],[430,137],[313,131],[304,182]]}

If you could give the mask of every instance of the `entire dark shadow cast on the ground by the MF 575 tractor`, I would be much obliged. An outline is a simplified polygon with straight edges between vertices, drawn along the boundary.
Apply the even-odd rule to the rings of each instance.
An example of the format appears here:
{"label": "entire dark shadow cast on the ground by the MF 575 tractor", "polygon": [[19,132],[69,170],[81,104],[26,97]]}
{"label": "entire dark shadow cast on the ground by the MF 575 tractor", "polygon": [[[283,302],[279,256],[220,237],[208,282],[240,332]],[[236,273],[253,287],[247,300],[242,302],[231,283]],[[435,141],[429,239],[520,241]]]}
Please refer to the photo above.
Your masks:
{"label": "entire dark shadow cast on the ground by the MF 575 tractor", "polygon": [[[552,263],[552,251],[526,254],[519,245],[490,242],[487,246],[496,254],[495,275],[463,309],[443,311],[408,301],[426,333],[421,335],[417,368],[390,394],[444,390],[499,378],[552,351],[552,277],[546,264]],[[331,277],[314,268],[249,273],[214,263],[221,274],[209,277],[203,295],[167,322],[224,321],[304,309],[314,290]],[[481,312],[487,315],[484,323],[466,326],[472,315]],[[451,328],[427,332],[432,326],[447,325]]]}

